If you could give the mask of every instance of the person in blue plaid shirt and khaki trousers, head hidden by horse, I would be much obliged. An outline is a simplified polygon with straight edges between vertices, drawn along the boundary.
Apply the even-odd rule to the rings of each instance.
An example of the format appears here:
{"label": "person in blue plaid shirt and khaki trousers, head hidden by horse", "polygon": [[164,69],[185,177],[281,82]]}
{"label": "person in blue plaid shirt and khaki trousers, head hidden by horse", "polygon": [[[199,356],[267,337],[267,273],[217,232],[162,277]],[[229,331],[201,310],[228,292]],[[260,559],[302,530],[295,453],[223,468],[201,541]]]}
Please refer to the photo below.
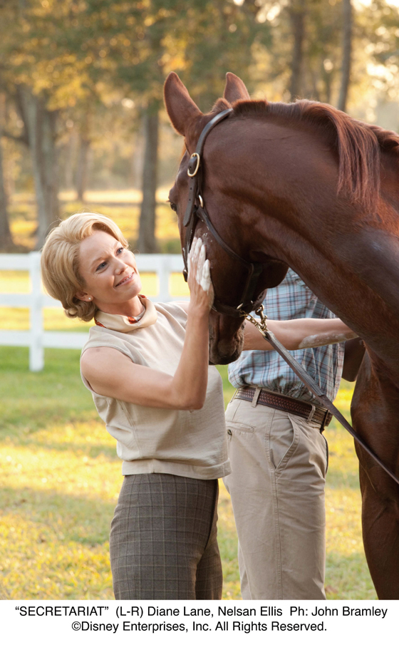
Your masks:
{"label": "person in blue plaid shirt and khaki trousers, head hidden by horse", "polygon": [[[264,301],[270,319],[335,315],[289,269]],[[292,351],[335,398],[344,344]],[[324,485],[330,417],[276,351],[243,351],[226,411],[232,474],[225,478],[239,537],[244,599],[325,599]],[[263,404],[263,405],[262,405]]]}

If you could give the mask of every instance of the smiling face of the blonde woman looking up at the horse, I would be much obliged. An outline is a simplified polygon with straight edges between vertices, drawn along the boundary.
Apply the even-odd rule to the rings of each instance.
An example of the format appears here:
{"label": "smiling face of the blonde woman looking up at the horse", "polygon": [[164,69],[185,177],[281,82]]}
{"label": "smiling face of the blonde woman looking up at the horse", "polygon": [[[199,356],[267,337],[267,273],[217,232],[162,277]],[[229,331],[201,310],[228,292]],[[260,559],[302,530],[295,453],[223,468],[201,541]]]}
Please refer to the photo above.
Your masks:
{"label": "smiling face of the blonde woman looking up at the horse", "polygon": [[135,257],[110,234],[95,231],[83,239],[79,252],[79,272],[85,290],[80,299],[92,299],[103,311],[117,312],[141,291],[141,280]]}

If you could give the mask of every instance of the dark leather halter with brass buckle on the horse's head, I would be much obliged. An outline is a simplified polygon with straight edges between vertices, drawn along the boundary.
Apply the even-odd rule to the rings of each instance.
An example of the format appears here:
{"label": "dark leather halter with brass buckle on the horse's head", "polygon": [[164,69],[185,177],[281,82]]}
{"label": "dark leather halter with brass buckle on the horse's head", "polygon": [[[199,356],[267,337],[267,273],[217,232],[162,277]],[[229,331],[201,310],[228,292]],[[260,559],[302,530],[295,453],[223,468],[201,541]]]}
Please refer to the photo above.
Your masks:
{"label": "dark leather halter with brass buckle on the horse's head", "polygon": [[244,284],[244,292],[239,301],[239,304],[234,307],[232,305],[227,305],[222,303],[214,297],[214,303],[212,309],[218,311],[219,314],[227,314],[228,316],[242,316],[243,313],[248,314],[250,311],[255,309],[261,301],[263,300],[263,292],[258,297],[257,300],[252,300],[254,295],[255,288],[257,287],[257,282],[259,275],[264,269],[264,265],[259,262],[247,262],[242,257],[239,257],[239,254],[236,254],[228,245],[224,242],[220,234],[215,229],[212,224],[207,210],[204,206],[204,200],[201,196],[201,184],[202,184],[202,168],[201,168],[201,159],[202,151],[204,149],[204,143],[207,138],[207,135],[210,133],[212,128],[216,126],[220,121],[226,119],[229,114],[232,113],[232,108],[228,110],[223,110],[221,113],[217,114],[213,119],[211,119],[207,125],[202,130],[201,135],[199,135],[199,140],[197,142],[197,148],[195,153],[191,155],[191,158],[188,163],[187,175],[190,177],[190,189],[188,195],[187,207],[185,210],[185,217],[183,218],[183,225],[186,227],[185,234],[185,246],[182,249],[183,260],[185,264],[185,269],[183,270],[183,275],[185,281],[187,282],[187,257],[190,252],[192,245],[192,239],[194,238],[195,229],[197,227],[198,220],[204,222],[207,226],[209,232],[212,233],[214,238],[217,240],[219,245],[224,249],[224,252],[229,254],[229,257],[235,259],[239,264],[241,264],[248,271],[247,280]]}

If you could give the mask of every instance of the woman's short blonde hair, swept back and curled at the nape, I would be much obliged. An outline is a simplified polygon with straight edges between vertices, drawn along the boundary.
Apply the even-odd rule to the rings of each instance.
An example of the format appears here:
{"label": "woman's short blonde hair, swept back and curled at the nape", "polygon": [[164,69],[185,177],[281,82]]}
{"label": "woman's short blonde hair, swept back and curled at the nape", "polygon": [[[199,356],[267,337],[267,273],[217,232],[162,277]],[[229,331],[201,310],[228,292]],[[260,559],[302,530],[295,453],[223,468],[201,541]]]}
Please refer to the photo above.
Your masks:
{"label": "woman's short blonde hair, swept back and curled at the nape", "polygon": [[128,247],[118,225],[100,213],[75,213],[48,234],[41,253],[41,277],[52,298],[61,300],[66,316],[90,321],[95,314],[93,301],[79,300],[76,292],[85,288],[79,273],[79,247],[93,232],[106,232]]}

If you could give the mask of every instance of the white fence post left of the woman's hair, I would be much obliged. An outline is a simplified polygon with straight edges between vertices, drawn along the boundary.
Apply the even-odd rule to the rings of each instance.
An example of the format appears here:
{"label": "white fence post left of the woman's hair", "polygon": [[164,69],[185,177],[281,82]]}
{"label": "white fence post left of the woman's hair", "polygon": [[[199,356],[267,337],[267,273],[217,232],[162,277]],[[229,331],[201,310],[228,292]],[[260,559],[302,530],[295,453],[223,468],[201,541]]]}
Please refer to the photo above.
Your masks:
{"label": "white fence post left of the woman's hair", "polygon": [[40,252],[29,254],[29,274],[31,276],[29,369],[41,371],[44,366],[44,350]]}

